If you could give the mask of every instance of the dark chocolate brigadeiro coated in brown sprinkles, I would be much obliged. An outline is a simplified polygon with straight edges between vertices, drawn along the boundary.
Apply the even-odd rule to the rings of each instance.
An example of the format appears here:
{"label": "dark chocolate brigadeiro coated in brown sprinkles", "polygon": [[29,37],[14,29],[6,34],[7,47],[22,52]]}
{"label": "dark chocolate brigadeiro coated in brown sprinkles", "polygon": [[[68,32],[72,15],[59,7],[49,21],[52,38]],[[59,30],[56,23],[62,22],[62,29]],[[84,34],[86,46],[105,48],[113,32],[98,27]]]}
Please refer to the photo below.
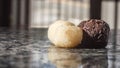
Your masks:
{"label": "dark chocolate brigadeiro coated in brown sprinkles", "polygon": [[83,29],[81,48],[105,48],[108,43],[109,25],[98,19],[82,21],[78,27]]}

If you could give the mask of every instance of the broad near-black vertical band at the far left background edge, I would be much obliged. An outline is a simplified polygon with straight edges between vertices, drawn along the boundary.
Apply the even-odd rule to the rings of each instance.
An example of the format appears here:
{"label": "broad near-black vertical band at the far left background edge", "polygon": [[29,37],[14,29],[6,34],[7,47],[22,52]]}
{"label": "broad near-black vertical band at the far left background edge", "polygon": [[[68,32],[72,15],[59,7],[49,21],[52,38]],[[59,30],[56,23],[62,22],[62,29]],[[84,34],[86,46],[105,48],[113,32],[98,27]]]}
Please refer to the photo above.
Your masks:
{"label": "broad near-black vertical band at the far left background edge", "polygon": [[11,0],[0,0],[0,26],[10,26]]}

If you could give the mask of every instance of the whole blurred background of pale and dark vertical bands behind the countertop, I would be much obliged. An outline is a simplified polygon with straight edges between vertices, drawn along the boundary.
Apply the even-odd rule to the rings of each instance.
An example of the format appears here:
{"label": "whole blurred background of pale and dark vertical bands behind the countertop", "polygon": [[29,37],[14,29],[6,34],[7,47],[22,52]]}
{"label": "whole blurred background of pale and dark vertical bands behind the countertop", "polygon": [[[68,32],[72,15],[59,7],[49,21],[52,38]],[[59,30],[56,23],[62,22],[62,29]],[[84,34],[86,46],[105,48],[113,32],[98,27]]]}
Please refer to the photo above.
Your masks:
{"label": "whole blurred background of pale and dark vertical bands behind the countertop", "polygon": [[106,21],[115,36],[111,42],[120,40],[120,0],[0,0],[0,27],[47,28],[56,20],[78,25],[87,19]]}

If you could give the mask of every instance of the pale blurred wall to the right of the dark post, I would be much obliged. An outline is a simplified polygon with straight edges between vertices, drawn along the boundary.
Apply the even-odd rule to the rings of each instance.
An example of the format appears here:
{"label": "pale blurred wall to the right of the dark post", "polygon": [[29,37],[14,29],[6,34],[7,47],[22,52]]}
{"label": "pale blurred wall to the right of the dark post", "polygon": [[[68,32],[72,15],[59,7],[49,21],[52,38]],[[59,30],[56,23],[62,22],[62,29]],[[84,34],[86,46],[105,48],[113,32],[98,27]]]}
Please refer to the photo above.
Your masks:
{"label": "pale blurred wall to the right of the dark post", "polygon": [[[115,2],[114,1],[103,1],[102,2],[102,19],[105,20],[110,28],[114,28],[114,13],[115,13]],[[120,2],[118,7],[118,28],[120,29]]]}

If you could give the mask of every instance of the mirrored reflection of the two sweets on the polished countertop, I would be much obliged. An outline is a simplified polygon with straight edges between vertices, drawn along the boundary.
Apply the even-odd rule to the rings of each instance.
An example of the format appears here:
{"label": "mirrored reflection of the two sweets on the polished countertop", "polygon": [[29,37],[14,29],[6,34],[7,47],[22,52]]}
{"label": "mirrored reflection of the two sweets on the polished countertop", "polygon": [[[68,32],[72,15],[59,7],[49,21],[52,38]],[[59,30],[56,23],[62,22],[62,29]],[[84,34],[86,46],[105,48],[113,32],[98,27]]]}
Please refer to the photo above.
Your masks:
{"label": "mirrored reflection of the two sweets on the polished countertop", "polygon": [[107,51],[50,47],[48,58],[57,68],[107,68]]}

